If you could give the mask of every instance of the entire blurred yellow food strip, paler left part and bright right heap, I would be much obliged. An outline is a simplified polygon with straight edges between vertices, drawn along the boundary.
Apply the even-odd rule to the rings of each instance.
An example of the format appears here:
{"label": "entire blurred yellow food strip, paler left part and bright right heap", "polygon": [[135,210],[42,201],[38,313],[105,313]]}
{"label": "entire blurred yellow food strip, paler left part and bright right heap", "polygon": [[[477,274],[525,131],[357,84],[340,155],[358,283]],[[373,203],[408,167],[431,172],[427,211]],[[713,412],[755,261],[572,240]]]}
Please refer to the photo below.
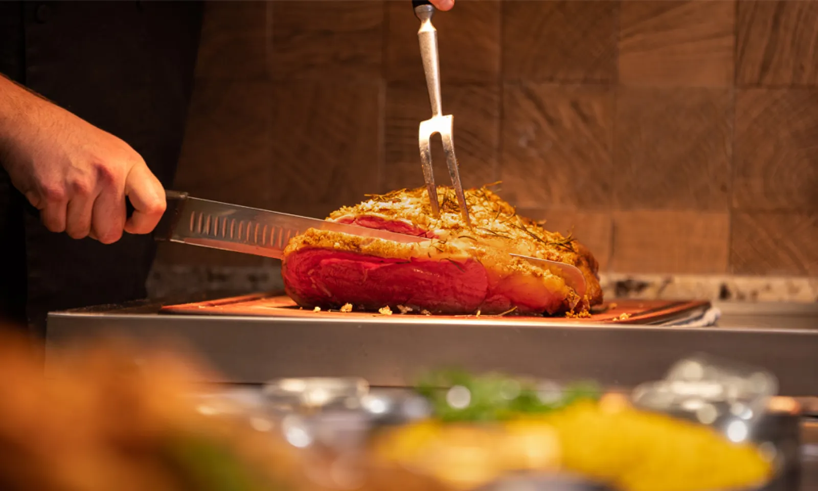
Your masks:
{"label": "entire blurred yellow food strip, paler left part and bright right heap", "polygon": [[603,400],[493,425],[423,421],[382,435],[375,453],[459,489],[517,470],[561,469],[622,491],[745,489],[771,478],[752,444]]}

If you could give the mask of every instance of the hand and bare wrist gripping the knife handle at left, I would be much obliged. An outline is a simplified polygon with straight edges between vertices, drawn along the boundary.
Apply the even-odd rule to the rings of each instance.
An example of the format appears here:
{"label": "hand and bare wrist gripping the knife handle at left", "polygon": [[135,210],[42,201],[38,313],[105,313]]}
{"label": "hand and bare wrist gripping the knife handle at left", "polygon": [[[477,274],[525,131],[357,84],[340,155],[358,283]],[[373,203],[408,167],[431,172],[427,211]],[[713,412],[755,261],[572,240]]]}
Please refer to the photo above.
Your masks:
{"label": "hand and bare wrist gripping the knife handle at left", "polygon": [[150,233],[164,213],[164,189],[133,148],[2,77],[0,163],[52,232],[110,244]]}

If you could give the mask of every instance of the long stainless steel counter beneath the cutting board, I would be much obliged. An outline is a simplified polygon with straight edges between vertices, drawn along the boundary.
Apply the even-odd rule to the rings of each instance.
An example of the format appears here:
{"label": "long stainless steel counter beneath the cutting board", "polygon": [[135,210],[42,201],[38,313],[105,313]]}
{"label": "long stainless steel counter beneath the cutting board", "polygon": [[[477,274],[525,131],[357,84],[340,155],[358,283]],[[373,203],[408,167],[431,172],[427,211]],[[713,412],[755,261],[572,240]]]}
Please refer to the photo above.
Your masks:
{"label": "long stainless steel counter beneath the cutting board", "polygon": [[52,313],[51,349],[116,331],[142,340],[186,340],[228,381],[276,376],[361,376],[411,384],[425,367],[460,366],[607,386],[658,380],[695,352],[766,367],[780,393],[818,395],[818,305],[719,304],[718,327],[531,324],[495,319],[371,320],[160,315],[159,304]]}

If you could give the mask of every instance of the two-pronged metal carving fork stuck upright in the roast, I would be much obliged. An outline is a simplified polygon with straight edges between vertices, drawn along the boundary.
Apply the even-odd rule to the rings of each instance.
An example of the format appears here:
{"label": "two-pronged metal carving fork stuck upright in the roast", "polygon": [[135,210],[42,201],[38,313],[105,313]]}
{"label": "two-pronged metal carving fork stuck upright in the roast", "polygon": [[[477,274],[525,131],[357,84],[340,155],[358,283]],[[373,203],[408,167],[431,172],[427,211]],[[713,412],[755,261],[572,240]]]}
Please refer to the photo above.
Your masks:
{"label": "two-pronged metal carving fork stuck upright in the roast", "polygon": [[432,151],[429,139],[434,133],[440,134],[443,141],[443,153],[446,155],[446,165],[452,186],[455,188],[457,203],[467,226],[471,227],[469,209],[466,206],[460,172],[457,169],[455,157],[455,143],[452,136],[454,119],[452,115],[443,115],[440,103],[440,65],[438,63],[438,29],[432,25],[434,6],[427,0],[412,0],[415,16],[420,20],[420,29],[417,37],[420,40],[420,57],[423,59],[423,71],[426,74],[426,88],[429,89],[429,102],[432,105],[432,118],[420,122],[418,142],[420,144],[420,164],[423,165],[423,178],[429,192],[429,203],[435,218],[440,216],[438,204],[438,188],[434,186],[434,170],[432,169]]}

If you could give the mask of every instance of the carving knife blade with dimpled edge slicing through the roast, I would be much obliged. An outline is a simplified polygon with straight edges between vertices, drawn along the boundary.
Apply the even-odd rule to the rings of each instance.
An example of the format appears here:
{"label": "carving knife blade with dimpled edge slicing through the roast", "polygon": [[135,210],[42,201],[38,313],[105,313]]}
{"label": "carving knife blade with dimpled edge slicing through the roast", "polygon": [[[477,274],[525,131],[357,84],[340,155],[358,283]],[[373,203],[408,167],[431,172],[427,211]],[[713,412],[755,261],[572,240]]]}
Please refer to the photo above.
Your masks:
{"label": "carving knife blade with dimpled edge slicing through the roast", "polygon": [[[187,192],[165,191],[165,196],[167,209],[153,234],[157,241],[181,242],[275,259],[283,259],[290,239],[310,228],[407,244],[429,241],[426,237],[377,228],[202,200],[188,196]],[[579,268],[546,259],[512,255],[558,274],[580,297],[585,295],[587,286]]]}

